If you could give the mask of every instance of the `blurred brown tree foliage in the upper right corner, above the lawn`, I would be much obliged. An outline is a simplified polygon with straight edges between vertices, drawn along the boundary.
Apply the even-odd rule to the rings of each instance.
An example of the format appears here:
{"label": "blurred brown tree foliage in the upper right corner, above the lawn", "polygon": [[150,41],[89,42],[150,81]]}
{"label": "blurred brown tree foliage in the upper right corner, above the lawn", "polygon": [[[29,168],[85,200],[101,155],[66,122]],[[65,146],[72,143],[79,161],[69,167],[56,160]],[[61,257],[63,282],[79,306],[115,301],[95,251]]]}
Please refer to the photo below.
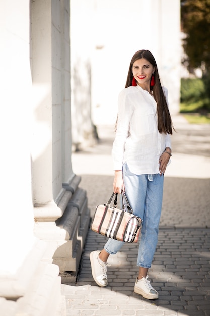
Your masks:
{"label": "blurred brown tree foliage in the upper right corner, above the lawn", "polygon": [[181,26],[186,34],[183,48],[189,71],[201,67],[209,72],[210,0],[181,1]]}

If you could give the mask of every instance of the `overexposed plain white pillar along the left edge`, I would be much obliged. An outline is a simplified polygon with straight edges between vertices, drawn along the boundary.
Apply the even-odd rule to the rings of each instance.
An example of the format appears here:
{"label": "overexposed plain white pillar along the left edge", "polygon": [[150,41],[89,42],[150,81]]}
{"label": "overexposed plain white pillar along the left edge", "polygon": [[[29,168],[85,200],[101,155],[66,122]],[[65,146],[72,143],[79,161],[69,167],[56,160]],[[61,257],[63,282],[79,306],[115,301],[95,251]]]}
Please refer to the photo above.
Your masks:
{"label": "overexposed plain white pillar along the left edge", "polygon": [[30,157],[29,1],[1,2],[0,23],[0,277],[10,277],[35,242]]}

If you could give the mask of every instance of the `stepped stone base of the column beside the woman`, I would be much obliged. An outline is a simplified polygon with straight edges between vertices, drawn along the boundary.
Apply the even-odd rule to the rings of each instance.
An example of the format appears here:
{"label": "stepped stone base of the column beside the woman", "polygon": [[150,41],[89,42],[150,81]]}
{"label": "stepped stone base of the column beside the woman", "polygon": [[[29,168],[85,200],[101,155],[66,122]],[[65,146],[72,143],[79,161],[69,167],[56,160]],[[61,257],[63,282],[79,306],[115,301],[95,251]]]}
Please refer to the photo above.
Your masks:
{"label": "stepped stone base of the column beside the woman", "polygon": [[[51,204],[35,210],[35,236],[48,244],[44,261],[59,266],[62,282],[63,275],[71,276],[76,281],[77,272],[90,224],[90,210],[86,190],[78,187],[81,178],[75,176],[63,185],[66,192],[62,194],[58,205],[60,214],[55,221],[51,214]],[[65,198],[70,197],[68,202]],[[59,208],[59,207],[58,207]],[[53,209],[55,209],[53,205]],[[43,211],[43,212],[42,212]],[[56,208],[56,212],[58,212]],[[55,213],[56,213],[55,212]],[[55,214],[54,213],[54,214]],[[56,213],[58,214],[58,213]]]}

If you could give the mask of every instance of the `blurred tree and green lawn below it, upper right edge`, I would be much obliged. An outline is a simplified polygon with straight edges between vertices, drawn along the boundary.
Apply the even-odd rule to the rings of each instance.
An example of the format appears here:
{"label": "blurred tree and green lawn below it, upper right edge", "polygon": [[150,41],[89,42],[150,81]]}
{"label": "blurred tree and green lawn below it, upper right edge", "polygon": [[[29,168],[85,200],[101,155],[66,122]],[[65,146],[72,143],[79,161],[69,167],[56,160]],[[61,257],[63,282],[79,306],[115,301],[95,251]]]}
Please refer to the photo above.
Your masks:
{"label": "blurred tree and green lawn below it, upper right edge", "polygon": [[[181,1],[182,65],[188,78],[181,79],[180,112],[210,113],[210,0]],[[199,78],[197,77],[199,70]]]}

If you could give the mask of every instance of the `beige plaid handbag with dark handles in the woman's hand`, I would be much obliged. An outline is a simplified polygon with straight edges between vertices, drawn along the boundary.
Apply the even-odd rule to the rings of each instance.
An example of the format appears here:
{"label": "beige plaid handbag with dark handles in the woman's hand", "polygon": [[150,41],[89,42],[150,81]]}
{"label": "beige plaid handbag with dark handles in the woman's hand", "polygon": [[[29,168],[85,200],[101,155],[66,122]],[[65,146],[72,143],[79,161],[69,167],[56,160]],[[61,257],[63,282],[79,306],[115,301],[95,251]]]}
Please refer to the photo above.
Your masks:
{"label": "beige plaid handbag with dark handles in the woman's hand", "polygon": [[[111,207],[114,195],[115,200]],[[123,191],[121,197],[122,209],[117,208],[117,193],[113,193],[106,204],[96,207],[91,230],[112,239],[135,243],[138,241],[142,220],[133,214]]]}

